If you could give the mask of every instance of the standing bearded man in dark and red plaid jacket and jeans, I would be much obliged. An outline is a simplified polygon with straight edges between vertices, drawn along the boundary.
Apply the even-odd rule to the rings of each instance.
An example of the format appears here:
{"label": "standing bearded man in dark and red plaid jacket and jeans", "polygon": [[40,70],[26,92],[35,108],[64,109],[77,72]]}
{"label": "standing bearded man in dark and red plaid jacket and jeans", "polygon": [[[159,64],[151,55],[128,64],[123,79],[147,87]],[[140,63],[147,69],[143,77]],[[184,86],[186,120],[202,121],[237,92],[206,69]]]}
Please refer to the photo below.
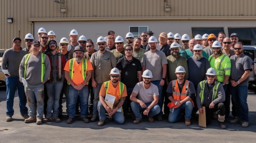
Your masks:
{"label": "standing bearded man in dark and red plaid jacket and jeans", "polygon": [[61,95],[61,90],[64,81],[64,66],[66,64],[66,59],[64,55],[56,50],[57,42],[55,40],[49,40],[48,43],[49,51],[46,55],[49,57],[51,64],[51,75],[48,81],[45,83],[47,89],[47,114],[43,122],[55,121],[61,122],[61,119],[58,118],[58,108],[59,108],[59,99]]}

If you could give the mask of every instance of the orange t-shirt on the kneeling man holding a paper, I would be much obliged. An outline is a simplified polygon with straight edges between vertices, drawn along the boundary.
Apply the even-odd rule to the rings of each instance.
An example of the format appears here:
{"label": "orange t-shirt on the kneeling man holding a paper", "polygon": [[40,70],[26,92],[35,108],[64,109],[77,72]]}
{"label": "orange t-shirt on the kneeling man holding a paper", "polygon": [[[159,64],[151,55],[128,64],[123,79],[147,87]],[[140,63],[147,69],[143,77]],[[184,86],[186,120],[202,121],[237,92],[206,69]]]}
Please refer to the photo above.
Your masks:
{"label": "orange t-shirt on the kneeling man holding a paper", "polygon": [[[111,81],[109,82],[109,86],[108,86],[108,92],[107,93],[109,95],[112,95],[112,96],[116,97],[114,107],[117,107],[117,105],[118,105],[118,103],[121,99],[121,96],[120,96],[121,93],[120,93],[120,89],[119,89],[119,82],[120,81],[118,81],[118,84],[117,84],[116,88],[114,88]],[[99,95],[103,96],[103,97],[105,97],[105,95],[106,95],[106,90],[105,90],[105,84],[104,83],[101,86],[101,90],[99,91]],[[122,93],[122,97],[127,97],[126,85],[124,85],[124,90],[123,90],[123,93]]]}

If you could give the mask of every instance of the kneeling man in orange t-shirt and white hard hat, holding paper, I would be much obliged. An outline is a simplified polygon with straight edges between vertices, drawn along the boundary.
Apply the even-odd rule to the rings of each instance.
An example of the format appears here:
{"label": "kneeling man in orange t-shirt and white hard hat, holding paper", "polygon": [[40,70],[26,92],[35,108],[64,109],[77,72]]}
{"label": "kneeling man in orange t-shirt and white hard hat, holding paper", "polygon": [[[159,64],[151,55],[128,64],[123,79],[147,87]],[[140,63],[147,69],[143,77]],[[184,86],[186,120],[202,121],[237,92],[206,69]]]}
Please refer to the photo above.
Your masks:
{"label": "kneeling man in orange t-shirt and white hard hat, holding paper", "polygon": [[[124,123],[124,114],[122,112],[122,105],[127,97],[126,85],[119,81],[119,70],[118,68],[113,68],[110,71],[110,80],[102,84],[101,90],[99,92],[99,122],[98,125],[104,125],[106,119],[106,111],[110,117],[113,117],[114,121],[118,124]],[[105,97],[109,96],[115,98],[113,106],[109,106],[106,103]]]}

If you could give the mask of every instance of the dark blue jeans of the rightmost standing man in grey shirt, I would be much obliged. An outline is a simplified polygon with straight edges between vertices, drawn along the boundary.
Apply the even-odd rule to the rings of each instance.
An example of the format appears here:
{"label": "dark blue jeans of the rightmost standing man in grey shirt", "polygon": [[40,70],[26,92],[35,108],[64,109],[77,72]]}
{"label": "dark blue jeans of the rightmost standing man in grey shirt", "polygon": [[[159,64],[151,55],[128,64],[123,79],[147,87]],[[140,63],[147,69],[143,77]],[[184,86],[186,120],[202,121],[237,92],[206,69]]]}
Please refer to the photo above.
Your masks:
{"label": "dark blue jeans of the rightmost standing man in grey shirt", "polygon": [[243,122],[249,122],[249,109],[247,105],[248,86],[230,86],[230,90],[236,116],[242,119]]}

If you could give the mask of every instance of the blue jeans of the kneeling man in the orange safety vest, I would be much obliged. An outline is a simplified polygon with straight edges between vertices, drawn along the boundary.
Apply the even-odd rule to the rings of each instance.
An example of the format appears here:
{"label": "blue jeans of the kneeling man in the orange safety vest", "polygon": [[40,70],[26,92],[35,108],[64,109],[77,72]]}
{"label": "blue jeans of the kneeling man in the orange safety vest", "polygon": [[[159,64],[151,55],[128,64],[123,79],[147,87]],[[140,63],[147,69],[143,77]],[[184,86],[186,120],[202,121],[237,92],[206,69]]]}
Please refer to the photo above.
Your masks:
{"label": "blue jeans of the kneeling man in the orange safety vest", "polygon": [[180,107],[175,108],[172,112],[172,109],[170,109],[168,121],[170,123],[175,123],[179,121],[182,117],[182,110],[185,110],[185,119],[191,119],[191,114],[193,110],[193,103],[191,101],[186,101],[186,103],[183,103]]}

